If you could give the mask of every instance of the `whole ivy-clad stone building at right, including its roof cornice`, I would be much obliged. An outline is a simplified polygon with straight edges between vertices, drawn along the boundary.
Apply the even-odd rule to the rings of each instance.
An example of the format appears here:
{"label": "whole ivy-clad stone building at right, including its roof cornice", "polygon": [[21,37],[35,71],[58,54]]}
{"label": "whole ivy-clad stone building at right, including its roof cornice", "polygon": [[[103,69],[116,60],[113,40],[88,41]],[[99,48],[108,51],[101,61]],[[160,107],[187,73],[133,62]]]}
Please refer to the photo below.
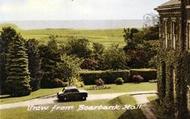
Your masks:
{"label": "whole ivy-clad stone building at right, including its roof cornice", "polygon": [[156,8],[160,15],[160,118],[166,119],[186,119],[190,111],[190,0],[186,0],[185,17],[181,6],[181,0],[170,0]]}

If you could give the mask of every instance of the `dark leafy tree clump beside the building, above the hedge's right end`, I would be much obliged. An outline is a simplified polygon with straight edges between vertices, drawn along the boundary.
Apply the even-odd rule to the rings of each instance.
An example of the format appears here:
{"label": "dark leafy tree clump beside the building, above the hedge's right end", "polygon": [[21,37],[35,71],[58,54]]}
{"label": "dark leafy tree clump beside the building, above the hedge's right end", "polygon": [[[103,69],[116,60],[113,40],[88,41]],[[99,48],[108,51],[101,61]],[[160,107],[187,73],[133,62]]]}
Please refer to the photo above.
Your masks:
{"label": "dark leafy tree clump beside the building, above the hedge's right end", "polygon": [[[130,68],[150,67],[151,59],[157,55],[157,47],[147,40],[157,40],[158,27],[150,27],[142,31],[124,29],[126,46],[123,48],[128,56],[128,66]],[[156,32],[156,33],[155,33]],[[155,36],[151,36],[154,35]],[[154,66],[154,65],[153,65]]]}

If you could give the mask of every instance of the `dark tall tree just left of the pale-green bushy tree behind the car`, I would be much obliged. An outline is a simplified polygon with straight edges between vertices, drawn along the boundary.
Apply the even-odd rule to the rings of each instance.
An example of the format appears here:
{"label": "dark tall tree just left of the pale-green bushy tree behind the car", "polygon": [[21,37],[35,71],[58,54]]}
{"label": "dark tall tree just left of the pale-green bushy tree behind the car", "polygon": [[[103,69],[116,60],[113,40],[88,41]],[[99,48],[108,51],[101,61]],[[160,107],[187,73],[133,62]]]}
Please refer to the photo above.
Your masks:
{"label": "dark tall tree just left of the pale-green bushy tree behind the car", "polygon": [[55,39],[50,38],[47,46],[39,46],[40,56],[42,58],[41,69],[43,71],[43,78],[41,80],[41,87],[49,88],[52,86],[56,76],[57,62],[61,61],[58,44]]}

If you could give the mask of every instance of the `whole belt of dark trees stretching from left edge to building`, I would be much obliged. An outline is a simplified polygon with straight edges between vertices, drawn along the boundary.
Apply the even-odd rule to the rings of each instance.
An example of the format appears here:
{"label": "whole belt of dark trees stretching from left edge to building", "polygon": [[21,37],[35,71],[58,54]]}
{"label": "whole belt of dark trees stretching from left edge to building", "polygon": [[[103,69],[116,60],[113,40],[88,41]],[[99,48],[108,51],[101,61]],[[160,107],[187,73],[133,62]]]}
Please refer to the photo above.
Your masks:
{"label": "whole belt of dark trees stretching from left edge to building", "polygon": [[[77,37],[60,44],[53,35],[47,44],[40,44],[36,39],[24,39],[11,27],[3,28],[0,32],[1,93],[24,96],[39,88],[83,85],[79,77],[81,69],[150,67],[154,64],[151,59],[156,56],[156,48],[146,41],[154,30],[124,29],[125,47],[113,44],[106,48]],[[151,36],[151,40],[157,39],[156,36]]]}

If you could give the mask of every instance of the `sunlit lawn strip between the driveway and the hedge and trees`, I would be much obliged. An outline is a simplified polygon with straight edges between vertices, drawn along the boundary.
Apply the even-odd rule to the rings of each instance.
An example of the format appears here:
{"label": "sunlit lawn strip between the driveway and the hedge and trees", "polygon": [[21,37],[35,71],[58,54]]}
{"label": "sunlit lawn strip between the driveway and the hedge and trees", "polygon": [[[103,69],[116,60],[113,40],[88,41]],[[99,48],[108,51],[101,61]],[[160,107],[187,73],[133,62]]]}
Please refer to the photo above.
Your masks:
{"label": "sunlit lawn strip between the driveway and the hedge and trees", "polygon": [[[110,89],[103,89],[103,90],[88,90],[90,94],[100,94],[100,93],[119,93],[119,92],[132,92],[132,91],[149,91],[149,90],[156,90],[156,83],[125,83],[123,85],[106,85],[109,86]],[[85,86],[84,89],[88,89],[91,86]],[[40,89],[38,91],[32,92],[29,96],[24,97],[7,97],[1,98],[0,104],[5,103],[14,103],[20,101],[26,101],[42,96],[53,95],[57,92],[61,91],[62,88],[53,88],[53,89]]]}

